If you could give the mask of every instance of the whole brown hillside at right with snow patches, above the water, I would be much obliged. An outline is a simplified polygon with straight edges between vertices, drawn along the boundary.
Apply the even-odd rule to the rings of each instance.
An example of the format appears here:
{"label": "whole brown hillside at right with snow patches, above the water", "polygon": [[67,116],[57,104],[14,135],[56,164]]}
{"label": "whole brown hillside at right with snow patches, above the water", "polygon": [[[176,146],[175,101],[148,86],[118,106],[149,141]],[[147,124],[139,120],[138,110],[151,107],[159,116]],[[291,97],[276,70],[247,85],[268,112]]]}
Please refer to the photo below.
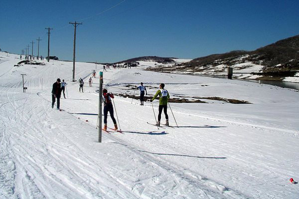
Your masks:
{"label": "whole brown hillside at right with snow patches, above the water", "polygon": [[[159,65],[151,71],[179,74],[226,75],[233,68],[236,77],[299,82],[299,35],[254,51],[232,51],[174,65]],[[248,74],[246,74],[248,73]]]}

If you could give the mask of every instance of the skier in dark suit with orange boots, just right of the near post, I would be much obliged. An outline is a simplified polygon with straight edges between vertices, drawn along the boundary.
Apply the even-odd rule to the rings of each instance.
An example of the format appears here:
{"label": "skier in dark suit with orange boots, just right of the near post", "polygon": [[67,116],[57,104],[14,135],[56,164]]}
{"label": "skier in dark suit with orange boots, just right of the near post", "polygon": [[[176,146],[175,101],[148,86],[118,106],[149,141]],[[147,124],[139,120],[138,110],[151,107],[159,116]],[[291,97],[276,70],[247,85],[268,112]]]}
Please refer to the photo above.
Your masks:
{"label": "skier in dark suit with orange boots, just right of the near post", "polygon": [[107,89],[103,89],[103,102],[104,102],[104,130],[107,130],[107,114],[110,113],[111,119],[114,123],[114,129],[117,130],[117,123],[113,115],[113,105],[111,98],[114,98],[113,94],[107,93]]}

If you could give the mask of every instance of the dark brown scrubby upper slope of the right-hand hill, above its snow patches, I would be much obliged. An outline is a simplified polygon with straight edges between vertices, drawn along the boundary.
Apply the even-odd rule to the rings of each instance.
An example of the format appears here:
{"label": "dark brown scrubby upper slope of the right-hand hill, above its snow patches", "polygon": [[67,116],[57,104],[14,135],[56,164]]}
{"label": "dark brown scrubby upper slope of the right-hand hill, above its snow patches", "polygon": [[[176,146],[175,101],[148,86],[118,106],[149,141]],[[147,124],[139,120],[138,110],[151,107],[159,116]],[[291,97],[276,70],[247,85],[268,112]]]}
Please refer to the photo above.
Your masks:
{"label": "dark brown scrubby upper slope of the right-hand hill, above its snow patches", "polygon": [[215,61],[225,61],[227,66],[236,64],[236,58],[246,56],[241,62],[252,62],[263,65],[264,72],[299,70],[299,35],[279,40],[273,44],[254,51],[231,51],[200,57],[184,63],[185,67],[199,67],[216,64]]}

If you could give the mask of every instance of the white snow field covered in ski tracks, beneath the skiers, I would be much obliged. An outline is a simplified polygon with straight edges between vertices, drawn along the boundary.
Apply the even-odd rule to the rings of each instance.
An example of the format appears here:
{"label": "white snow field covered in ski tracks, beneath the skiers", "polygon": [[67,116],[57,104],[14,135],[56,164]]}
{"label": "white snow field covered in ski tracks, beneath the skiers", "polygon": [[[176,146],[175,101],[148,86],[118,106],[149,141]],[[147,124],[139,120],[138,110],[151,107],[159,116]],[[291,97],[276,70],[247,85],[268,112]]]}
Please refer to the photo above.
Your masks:
{"label": "white snow field covered in ski tracks, beneath the skiers", "polygon": [[[165,83],[171,98],[221,97],[232,104],[171,103],[177,127],[154,123],[151,103],[116,97],[123,133],[103,132],[98,143],[98,75],[95,64],[13,67],[19,60],[0,54],[0,198],[65,199],[296,199],[299,179],[299,92],[250,82],[144,71],[104,72],[114,94],[134,94],[127,85],[144,82],[154,95]],[[154,65],[149,63],[148,65]],[[102,70],[97,65],[97,74]],[[26,74],[26,93],[20,74]],[[51,86],[68,83],[64,111],[51,108]],[[135,92],[135,95],[138,95]],[[157,114],[157,100],[154,101]],[[176,126],[168,108],[170,125]],[[162,114],[161,123],[164,123]],[[108,118],[108,126],[112,121]]]}

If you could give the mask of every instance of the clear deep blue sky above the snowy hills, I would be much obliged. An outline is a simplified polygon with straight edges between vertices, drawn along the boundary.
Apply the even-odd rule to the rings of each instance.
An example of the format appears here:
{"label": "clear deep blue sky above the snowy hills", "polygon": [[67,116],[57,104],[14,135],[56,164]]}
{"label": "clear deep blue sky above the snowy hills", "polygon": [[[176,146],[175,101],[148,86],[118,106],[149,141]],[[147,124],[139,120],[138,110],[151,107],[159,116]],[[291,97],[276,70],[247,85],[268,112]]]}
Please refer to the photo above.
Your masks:
{"label": "clear deep blue sky above the snowy hills", "polygon": [[[254,50],[299,34],[299,0],[1,0],[0,48],[20,53],[54,28],[50,55],[116,62],[139,56],[197,58],[231,50]],[[90,17],[91,18],[87,18]],[[84,19],[87,18],[87,19]],[[83,19],[83,20],[82,20]],[[31,47],[30,47],[31,53]]]}

